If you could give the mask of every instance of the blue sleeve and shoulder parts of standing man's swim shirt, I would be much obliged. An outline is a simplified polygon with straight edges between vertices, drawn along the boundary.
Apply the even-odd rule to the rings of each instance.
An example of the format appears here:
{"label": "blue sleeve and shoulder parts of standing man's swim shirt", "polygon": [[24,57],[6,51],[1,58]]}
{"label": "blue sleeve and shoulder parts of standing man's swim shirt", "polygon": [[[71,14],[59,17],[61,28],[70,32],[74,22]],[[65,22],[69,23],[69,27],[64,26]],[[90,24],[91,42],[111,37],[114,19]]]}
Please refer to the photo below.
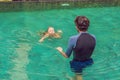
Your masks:
{"label": "blue sleeve and shoulder parts of standing man's swim shirt", "polygon": [[[72,36],[70,37],[69,41],[68,41],[68,47],[67,47],[67,50],[66,50],[66,55],[68,57],[70,57],[72,51],[73,51],[73,48],[75,48],[76,46],[76,42],[77,42],[77,39],[78,37],[82,34],[82,33],[87,33],[87,32],[80,32],[79,34],[75,35],[75,36]],[[91,35],[95,38],[94,35]]]}

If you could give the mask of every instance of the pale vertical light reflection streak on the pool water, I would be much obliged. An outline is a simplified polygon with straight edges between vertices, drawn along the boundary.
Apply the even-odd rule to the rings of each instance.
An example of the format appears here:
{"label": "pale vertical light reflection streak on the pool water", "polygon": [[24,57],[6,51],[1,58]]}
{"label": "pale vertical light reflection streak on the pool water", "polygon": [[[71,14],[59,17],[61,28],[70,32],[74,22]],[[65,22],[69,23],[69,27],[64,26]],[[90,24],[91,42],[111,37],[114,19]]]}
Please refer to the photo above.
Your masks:
{"label": "pale vertical light reflection streak on the pool water", "polygon": [[26,66],[29,64],[28,51],[31,46],[27,43],[19,43],[15,49],[17,55],[13,60],[14,67],[10,70],[11,80],[29,80],[26,72]]}

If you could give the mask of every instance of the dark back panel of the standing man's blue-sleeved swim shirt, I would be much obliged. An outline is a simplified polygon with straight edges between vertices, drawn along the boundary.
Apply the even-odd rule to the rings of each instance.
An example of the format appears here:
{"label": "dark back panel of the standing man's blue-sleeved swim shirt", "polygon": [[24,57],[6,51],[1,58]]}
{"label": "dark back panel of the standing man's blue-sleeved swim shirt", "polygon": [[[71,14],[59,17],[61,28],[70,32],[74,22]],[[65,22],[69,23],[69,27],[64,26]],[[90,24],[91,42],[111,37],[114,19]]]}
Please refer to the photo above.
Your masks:
{"label": "dark back panel of the standing man's blue-sleeved swim shirt", "polygon": [[74,48],[74,59],[84,61],[91,57],[92,52],[95,48],[95,38],[89,33],[82,33],[76,42]]}

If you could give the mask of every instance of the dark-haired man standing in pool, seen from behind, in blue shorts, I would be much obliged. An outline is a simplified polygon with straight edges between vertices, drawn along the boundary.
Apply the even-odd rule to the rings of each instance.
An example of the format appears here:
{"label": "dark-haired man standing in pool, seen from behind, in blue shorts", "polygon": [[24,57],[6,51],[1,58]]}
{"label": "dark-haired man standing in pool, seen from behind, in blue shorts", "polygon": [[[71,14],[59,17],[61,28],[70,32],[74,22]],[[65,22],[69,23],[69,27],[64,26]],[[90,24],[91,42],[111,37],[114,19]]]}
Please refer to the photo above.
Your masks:
{"label": "dark-haired man standing in pool, seen from behind, in blue shorts", "polygon": [[96,40],[93,35],[87,32],[89,23],[87,17],[77,16],[75,24],[79,34],[70,37],[66,52],[61,47],[56,48],[66,58],[69,58],[73,52],[73,60],[70,61],[70,67],[76,74],[76,80],[82,80],[82,69],[93,64],[91,56],[96,45]]}

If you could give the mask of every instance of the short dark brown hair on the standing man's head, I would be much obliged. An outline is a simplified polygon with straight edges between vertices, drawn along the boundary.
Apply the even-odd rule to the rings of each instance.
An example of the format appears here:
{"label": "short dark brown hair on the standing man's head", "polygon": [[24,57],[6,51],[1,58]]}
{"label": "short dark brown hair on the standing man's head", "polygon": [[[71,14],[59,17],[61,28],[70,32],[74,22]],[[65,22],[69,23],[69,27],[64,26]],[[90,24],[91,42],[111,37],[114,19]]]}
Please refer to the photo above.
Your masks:
{"label": "short dark brown hair on the standing man's head", "polygon": [[81,31],[86,31],[89,27],[89,23],[89,19],[85,16],[77,16],[75,19],[75,24]]}

